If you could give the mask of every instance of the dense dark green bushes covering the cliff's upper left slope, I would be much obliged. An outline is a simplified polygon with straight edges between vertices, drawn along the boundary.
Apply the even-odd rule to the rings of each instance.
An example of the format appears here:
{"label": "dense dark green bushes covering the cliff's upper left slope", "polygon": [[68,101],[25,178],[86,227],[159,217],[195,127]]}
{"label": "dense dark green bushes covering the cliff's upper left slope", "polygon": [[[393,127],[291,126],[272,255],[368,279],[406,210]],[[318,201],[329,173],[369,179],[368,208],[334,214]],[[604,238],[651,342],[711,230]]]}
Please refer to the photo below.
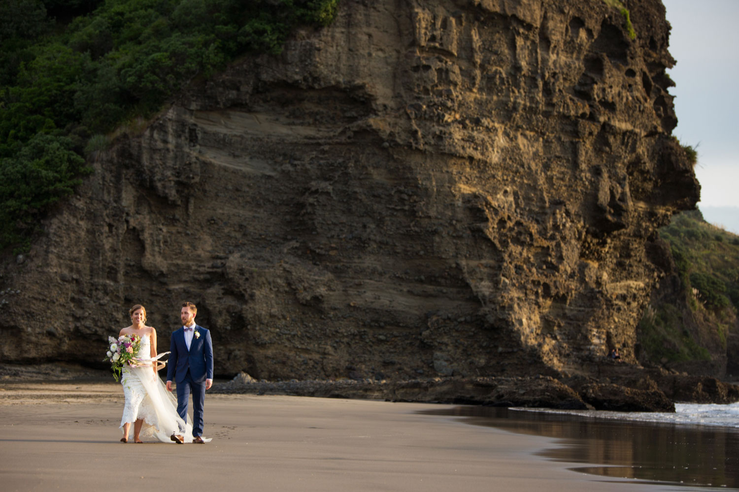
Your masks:
{"label": "dense dark green bushes covering the cliff's upper left slope", "polygon": [[30,245],[117,125],[245,52],[279,53],[339,1],[1,0],[0,249]]}

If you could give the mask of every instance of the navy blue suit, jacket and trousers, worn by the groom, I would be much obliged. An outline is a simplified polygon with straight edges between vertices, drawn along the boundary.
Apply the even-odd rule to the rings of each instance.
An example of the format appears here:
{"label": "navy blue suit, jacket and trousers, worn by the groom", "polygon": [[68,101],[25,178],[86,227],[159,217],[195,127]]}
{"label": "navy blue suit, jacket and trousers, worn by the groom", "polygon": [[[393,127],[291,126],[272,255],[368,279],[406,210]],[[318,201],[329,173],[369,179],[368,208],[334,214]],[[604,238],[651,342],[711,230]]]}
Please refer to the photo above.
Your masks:
{"label": "navy blue suit, jacket and trousers, worn by the groom", "polygon": [[[211,332],[195,325],[190,350],[185,343],[185,329],[172,333],[167,364],[167,381],[177,383],[177,413],[187,420],[188,397],[192,392],[192,435],[202,435],[202,407],[205,404],[205,380],[213,379],[213,343]],[[182,430],[182,429],[180,429]]]}

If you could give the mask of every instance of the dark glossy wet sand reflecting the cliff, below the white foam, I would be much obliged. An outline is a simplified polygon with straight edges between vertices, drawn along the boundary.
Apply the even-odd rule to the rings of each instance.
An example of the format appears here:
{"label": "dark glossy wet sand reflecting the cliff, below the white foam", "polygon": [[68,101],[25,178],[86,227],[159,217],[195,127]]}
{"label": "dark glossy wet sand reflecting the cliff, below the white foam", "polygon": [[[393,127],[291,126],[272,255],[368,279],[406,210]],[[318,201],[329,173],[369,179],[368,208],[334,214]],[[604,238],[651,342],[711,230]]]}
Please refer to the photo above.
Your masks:
{"label": "dark glossy wet sand reflecting the cliff, below the white foam", "polygon": [[588,474],[649,482],[739,489],[739,429],[588,419],[503,408],[457,406],[434,415],[509,432],[555,437],[563,446],[538,454],[588,466]]}

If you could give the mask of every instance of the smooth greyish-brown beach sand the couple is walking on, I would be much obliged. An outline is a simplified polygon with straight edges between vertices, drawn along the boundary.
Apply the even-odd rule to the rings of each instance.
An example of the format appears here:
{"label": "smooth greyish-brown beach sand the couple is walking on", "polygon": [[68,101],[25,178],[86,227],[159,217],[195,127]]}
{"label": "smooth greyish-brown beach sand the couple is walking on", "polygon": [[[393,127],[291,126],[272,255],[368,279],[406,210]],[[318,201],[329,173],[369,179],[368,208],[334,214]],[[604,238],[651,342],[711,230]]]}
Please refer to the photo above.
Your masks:
{"label": "smooth greyish-brown beach sand the couple is walking on", "polygon": [[119,443],[122,408],[118,384],[1,383],[0,490],[674,490],[569,471],[534,456],[551,438],[416,413],[429,404],[207,395],[213,441],[185,446]]}

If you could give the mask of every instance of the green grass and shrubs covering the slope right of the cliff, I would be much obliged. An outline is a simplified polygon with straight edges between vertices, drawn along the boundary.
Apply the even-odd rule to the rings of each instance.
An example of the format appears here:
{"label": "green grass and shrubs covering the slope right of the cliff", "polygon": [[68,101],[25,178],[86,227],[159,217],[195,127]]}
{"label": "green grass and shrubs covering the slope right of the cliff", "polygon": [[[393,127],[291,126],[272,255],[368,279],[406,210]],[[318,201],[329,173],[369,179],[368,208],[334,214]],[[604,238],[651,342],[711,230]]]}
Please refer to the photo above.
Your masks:
{"label": "green grass and shrubs covering the slope right of the cliff", "polygon": [[739,236],[708,224],[698,210],[675,215],[659,234],[670,245],[680,298],[647,308],[640,342],[652,361],[709,360],[698,340],[713,339],[726,350],[739,312]]}

